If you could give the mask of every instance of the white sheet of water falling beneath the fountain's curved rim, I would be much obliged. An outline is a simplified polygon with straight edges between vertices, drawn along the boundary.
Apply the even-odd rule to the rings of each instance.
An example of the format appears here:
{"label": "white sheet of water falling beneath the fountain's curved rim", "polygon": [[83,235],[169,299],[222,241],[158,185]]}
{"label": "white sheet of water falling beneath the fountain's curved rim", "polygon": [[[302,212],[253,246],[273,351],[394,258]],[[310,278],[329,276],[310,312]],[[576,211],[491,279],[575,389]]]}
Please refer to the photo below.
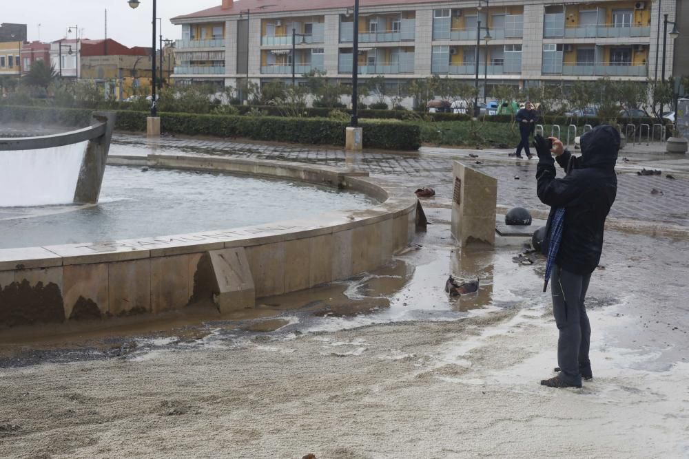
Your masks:
{"label": "white sheet of water falling beneath the fountain's curved rim", "polygon": [[71,204],[87,145],[0,151],[0,207]]}

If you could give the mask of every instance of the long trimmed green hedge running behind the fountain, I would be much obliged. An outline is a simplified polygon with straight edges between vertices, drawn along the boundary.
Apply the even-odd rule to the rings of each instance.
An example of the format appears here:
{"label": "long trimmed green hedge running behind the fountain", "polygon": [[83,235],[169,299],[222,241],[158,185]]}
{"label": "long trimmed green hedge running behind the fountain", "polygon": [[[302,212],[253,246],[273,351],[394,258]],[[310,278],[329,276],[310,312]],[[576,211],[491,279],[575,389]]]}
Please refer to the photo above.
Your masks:
{"label": "long trimmed green hedge running behind the fountain", "polygon": [[[39,107],[0,107],[0,120],[85,126],[92,110]],[[144,111],[116,111],[115,129],[145,131]],[[421,129],[410,122],[362,120],[364,145],[373,149],[415,151],[421,146]],[[162,113],[161,129],[172,134],[250,138],[315,145],[345,145],[347,122],[328,118],[287,118],[277,116],[223,116]]]}

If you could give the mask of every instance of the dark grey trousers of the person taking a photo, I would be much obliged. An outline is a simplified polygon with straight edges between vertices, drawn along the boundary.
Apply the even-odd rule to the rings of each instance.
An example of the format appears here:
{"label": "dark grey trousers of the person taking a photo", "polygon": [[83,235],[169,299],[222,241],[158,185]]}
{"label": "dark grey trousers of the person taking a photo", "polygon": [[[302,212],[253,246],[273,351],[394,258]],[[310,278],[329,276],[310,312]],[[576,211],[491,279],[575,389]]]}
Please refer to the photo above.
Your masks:
{"label": "dark grey trousers of the person taking a photo", "polygon": [[591,342],[591,325],[586,315],[584,300],[591,275],[578,275],[553,266],[551,293],[553,315],[559,330],[557,365],[559,378],[570,384],[582,383],[579,367],[590,366],[588,349]]}

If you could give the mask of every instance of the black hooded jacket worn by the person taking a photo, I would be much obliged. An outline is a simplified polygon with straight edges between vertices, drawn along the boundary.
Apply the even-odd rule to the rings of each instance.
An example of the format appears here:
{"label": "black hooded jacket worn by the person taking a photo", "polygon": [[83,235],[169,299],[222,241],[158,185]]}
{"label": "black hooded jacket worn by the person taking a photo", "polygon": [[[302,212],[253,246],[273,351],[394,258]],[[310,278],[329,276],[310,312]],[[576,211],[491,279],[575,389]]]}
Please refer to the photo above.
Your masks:
{"label": "black hooded jacket worn by the person taking a photo", "polygon": [[[555,209],[565,208],[557,265],[570,273],[586,275],[599,264],[605,220],[617,195],[619,133],[611,126],[598,126],[582,136],[581,147],[579,158],[568,151],[557,157],[567,171],[564,178],[555,178],[552,156],[539,155],[536,179],[538,198],[551,206],[546,239]],[[545,253],[547,246],[546,240]]]}

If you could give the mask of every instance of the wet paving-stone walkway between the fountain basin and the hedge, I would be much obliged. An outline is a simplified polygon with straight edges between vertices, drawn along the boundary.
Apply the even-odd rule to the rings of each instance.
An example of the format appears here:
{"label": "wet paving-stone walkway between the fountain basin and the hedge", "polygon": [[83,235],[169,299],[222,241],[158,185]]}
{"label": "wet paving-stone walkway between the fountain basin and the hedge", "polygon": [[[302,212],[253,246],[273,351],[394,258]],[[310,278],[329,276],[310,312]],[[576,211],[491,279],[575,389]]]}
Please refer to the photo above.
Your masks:
{"label": "wet paving-stone walkway between the fountain basin and the hedge", "polygon": [[[221,155],[329,166],[345,166],[353,162],[371,175],[380,175],[407,183],[410,189],[418,186],[432,186],[437,193],[436,199],[441,202],[449,202],[452,195],[452,162],[462,160],[497,178],[499,204],[548,209],[538,200],[535,193],[536,160],[514,162],[514,160],[507,160],[502,152],[474,151],[473,153],[479,157],[470,158],[469,151],[466,150],[422,148],[418,155],[367,152],[356,156],[347,154],[341,149],[227,140],[162,138],[157,145],[152,145],[141,136],[120,134],[114,136],[110,153],[114,155],[150,153]],[[664,164],[672,163],[667,158],[663,160]],[[477,161],[481,164],[476,164]],[[683,165],[683,162],[686,160],[677,159],[677,164]],[[635,171],[622,167],[620,169],[617,200],[610,211],[610,216],[689,226],[689,180],[681,176],[671,180],[666,178],[666,173],[641,176]],[[658,193],[652,192],[654,189]]]}

